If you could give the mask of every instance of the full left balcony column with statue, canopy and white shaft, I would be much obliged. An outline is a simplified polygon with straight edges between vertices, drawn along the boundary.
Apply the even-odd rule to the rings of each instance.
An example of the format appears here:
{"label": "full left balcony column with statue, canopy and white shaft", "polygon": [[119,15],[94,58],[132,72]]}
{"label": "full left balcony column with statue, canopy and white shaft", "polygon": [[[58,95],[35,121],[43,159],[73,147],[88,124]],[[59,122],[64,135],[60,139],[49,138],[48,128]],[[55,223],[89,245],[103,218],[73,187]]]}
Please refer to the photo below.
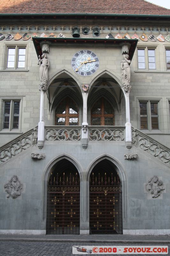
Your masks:
{"label": "full left balcony column with statue, canopy and white shaft", "polygon": [[38,148],[44,146],[44,98],[48,83],[48,68],[49,60],[47,53],[49,52],[49,45],[51,42],[41,41],[42,56],[39,55],[38,65],[40,65],[40,84],[39,90],[41,92],[40,99],[40,122],[38,123]]}

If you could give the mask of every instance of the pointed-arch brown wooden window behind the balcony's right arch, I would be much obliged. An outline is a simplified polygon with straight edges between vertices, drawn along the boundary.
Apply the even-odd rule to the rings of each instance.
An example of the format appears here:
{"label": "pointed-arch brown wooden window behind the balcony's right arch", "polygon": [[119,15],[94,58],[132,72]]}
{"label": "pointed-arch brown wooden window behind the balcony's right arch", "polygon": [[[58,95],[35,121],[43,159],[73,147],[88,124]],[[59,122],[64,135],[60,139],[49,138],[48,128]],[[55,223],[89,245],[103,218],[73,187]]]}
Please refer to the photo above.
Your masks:
{"label": "pointed-arch brown wooden window behind the balcony's right arch", "polygon": [[91,125],[115,125],[114,109],[104,98],[100,98],[92,106]]}

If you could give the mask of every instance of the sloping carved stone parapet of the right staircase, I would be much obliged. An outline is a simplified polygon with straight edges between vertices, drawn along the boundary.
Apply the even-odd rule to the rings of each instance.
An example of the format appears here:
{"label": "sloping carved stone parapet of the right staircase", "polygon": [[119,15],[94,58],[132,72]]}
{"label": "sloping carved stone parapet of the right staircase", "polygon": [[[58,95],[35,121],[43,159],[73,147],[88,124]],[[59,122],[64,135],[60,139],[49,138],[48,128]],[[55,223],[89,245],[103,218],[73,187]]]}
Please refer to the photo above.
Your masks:
{"label": "sloping carved stone parapet of the right staircase", "polygon": [[132,127],[132,146],[143,149],[162,163],[170,166],[170,148],[134,127]]}

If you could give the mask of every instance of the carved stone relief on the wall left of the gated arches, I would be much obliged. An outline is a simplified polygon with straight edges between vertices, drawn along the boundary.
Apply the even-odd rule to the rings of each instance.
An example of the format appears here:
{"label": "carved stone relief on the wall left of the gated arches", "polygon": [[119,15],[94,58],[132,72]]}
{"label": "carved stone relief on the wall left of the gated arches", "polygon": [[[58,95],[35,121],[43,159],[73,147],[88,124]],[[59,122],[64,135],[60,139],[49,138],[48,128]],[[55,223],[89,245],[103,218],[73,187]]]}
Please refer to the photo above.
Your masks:
{"label": "carved stone relief on the wall left of the gated arches", "polygon": [[23,184],[18,180],[16,175],[12,176],[12,178],[4,185],[5,191],[8,193],[7,197],[17,198],[21,194],[21,189],[23,188]]}

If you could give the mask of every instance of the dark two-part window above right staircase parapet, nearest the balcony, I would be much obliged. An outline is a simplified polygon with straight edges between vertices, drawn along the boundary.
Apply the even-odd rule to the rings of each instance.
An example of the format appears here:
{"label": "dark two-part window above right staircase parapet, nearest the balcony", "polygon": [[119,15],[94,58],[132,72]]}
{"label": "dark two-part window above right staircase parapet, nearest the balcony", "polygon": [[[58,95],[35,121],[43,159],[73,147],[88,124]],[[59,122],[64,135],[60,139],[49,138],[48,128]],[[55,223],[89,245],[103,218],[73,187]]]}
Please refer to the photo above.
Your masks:
{"label": "dark two-part window above right staircase parapet, nearest the balcony", "polygon": [[140,129],[158,130],[158,102],[140,102]]}

